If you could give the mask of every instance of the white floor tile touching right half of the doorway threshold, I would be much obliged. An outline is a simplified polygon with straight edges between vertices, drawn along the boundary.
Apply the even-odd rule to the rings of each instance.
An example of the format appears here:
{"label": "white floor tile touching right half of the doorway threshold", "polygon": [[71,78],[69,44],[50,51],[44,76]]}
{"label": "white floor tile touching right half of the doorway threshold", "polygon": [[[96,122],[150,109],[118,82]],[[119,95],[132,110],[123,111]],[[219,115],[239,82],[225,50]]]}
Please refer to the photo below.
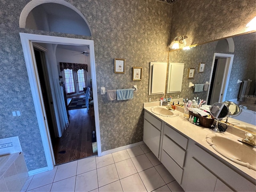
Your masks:
{"label": "white floor tile touching right half of the doorway threshold", "polygon": [[87,158],[78,160],[76,174],[79,175],[94,169],[96,169],[95,156],[87,157]]}

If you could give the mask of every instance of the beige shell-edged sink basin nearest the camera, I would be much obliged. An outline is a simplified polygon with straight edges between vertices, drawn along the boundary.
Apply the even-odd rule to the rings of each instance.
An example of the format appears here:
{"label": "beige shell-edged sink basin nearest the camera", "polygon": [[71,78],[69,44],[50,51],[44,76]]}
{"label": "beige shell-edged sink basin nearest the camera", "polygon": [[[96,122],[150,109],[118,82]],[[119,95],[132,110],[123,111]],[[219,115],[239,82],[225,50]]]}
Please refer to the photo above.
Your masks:
{"label": "beige shell-edged sink basin nearest the camera", "polygon": [[206,142],[227,159],[256,171],[256,148],[237,140],[236,136],[210,133]]}

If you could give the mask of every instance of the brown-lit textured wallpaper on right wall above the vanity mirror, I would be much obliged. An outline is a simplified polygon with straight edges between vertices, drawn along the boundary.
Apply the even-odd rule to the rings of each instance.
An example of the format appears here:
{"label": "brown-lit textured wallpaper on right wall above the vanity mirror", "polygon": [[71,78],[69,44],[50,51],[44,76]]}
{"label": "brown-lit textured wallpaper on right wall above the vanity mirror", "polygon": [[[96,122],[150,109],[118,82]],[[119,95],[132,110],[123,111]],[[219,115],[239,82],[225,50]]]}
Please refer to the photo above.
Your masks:
{"label": "brown-lit textured wallpaper on right wall above the vanity mirror", "polygon": [[255,0],[179,0],[173,5],[171,40],[184,34],[200,44],[241,34],[255,16]]}

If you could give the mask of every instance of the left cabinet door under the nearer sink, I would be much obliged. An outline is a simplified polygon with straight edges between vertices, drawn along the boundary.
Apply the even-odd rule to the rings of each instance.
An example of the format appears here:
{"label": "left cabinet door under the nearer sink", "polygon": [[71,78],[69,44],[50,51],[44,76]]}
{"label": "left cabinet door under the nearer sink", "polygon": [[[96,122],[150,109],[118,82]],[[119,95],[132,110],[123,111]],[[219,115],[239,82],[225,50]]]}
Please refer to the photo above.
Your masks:
{"label": "left cabinet door under the nearer sink", "polygon": [[216,176],[194,158],[189,159],[186,169],[188,169],[190,174],[187,174],[182,180],[185,191],[214,191],[217,180]]}

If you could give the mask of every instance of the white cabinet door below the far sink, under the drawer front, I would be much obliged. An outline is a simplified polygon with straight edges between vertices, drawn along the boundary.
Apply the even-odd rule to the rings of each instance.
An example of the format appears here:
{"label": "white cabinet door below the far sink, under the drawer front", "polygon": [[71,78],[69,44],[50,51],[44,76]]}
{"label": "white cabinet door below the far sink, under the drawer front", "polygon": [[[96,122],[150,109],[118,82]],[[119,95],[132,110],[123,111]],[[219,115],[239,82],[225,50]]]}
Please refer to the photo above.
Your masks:
{"label": "white cabinet door below the far sink, under the drawer front", "polygon": [[161,132],[144,120],[143,141],[158,158]]}

